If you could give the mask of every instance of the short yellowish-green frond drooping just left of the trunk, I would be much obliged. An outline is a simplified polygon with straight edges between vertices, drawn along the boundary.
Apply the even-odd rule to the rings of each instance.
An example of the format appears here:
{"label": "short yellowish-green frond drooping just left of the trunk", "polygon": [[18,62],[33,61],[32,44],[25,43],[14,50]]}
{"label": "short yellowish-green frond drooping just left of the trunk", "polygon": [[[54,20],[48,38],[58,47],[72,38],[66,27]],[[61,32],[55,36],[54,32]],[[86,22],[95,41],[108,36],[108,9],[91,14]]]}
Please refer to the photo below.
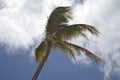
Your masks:
{"label": "short yellowish-green frond drooping just left of the trunk", "polygon": [[46,54],[46,43],[42,41],[35,50],[36,61],[40,62]]}

